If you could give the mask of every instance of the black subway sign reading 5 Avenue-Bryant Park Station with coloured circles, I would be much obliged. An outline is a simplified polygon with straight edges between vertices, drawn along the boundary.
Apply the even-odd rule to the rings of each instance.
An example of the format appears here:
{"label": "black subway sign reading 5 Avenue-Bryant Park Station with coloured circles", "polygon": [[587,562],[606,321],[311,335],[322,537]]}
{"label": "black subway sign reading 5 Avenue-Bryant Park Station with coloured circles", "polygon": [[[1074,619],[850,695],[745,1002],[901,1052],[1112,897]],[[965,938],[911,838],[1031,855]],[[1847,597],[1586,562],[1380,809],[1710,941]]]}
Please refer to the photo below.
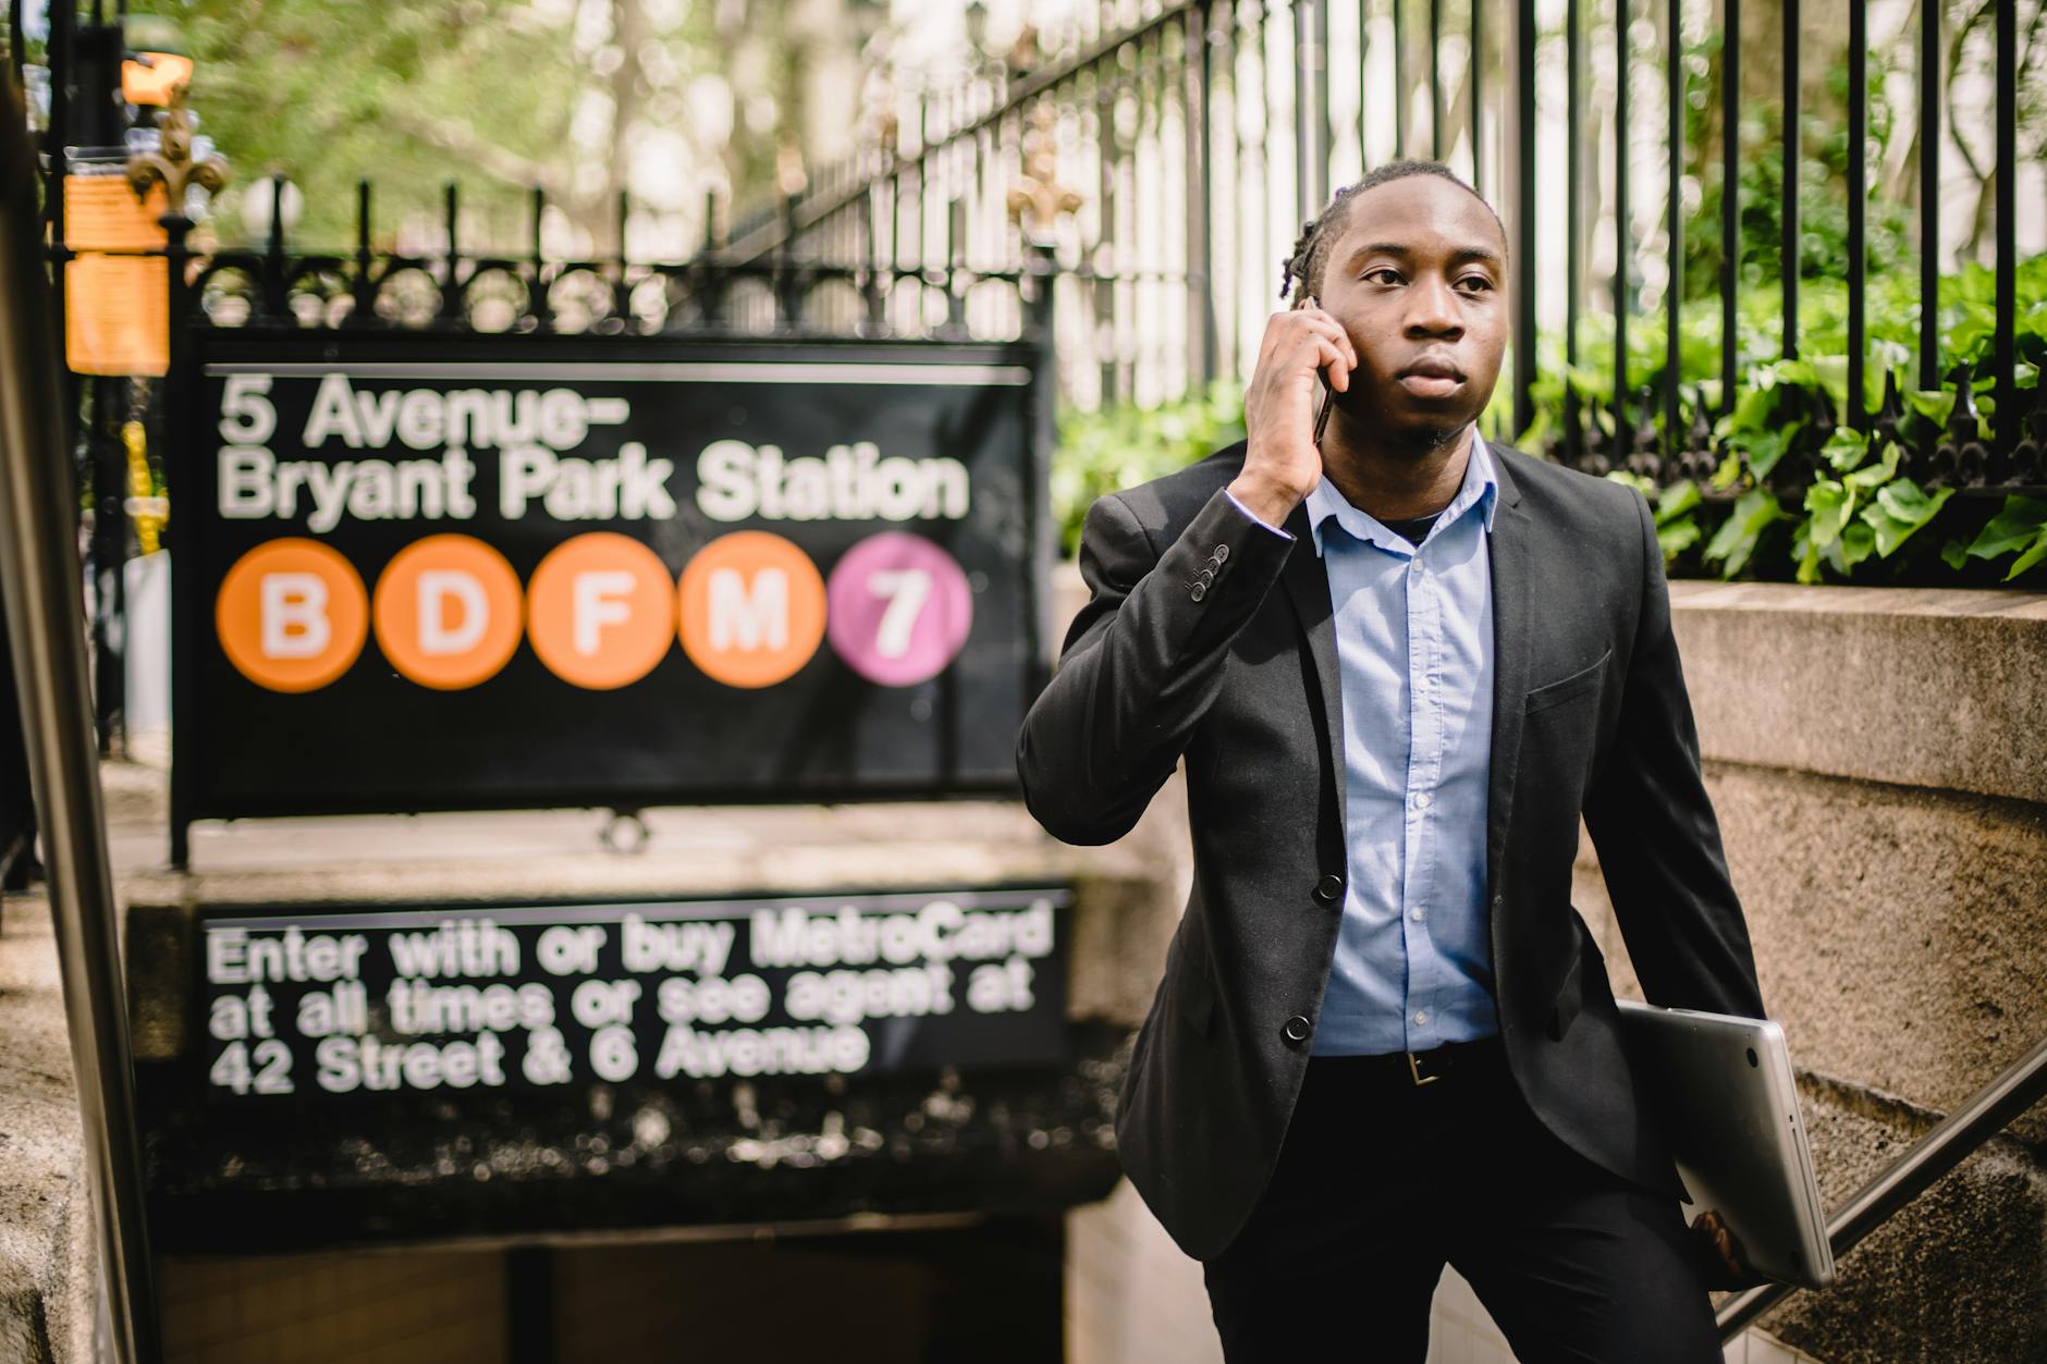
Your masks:
{"label": "black subway sign reading 5 Avenue-Bryant Park Station with coloured circles", "polygon": [[1030,344],[192,332],[172,819],[1007,793]]}

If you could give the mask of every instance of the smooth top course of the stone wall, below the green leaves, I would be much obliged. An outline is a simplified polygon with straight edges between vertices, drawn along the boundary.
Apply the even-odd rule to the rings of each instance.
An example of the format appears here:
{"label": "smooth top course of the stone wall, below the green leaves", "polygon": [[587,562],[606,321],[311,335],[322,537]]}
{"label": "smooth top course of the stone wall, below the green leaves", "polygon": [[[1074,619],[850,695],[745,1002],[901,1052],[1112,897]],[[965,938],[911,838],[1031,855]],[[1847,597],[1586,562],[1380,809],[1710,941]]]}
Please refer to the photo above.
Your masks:
{"label": "smooth top course of the stone wall, below the green leaves", "polygon": [[1672,582],[1707,758],[2047,801],[2047,594]]}

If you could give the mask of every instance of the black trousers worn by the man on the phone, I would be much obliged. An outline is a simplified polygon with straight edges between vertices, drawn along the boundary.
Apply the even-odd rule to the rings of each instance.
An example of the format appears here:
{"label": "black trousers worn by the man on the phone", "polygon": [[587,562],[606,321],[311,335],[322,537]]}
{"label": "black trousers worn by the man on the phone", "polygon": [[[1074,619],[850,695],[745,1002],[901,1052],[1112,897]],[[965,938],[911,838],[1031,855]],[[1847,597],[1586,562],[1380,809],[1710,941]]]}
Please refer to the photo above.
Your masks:
{"label": "black trousers worn by the man on the phone", "polygon": [[1451,1264],[1523,1364],[1719,1364],[1676,1202],[1529,1112],[1496,1038],[1435,1083],[1404,1061],[1310,1057],[1271,1184],[1204,1262],[1230,1364],[1423,1364]]}

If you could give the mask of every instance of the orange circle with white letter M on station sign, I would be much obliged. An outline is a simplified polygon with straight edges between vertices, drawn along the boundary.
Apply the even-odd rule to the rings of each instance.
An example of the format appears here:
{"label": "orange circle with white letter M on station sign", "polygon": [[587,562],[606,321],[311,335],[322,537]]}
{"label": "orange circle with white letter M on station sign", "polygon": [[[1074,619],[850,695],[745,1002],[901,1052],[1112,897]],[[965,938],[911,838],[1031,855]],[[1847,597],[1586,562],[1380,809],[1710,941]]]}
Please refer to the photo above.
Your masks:
{"label": "orange circle with white letter M on station sign", "polygon": [[780,535],[721,535],[682,569],[678,633],[710,680],[774,686],[825,639],[825,580]]}

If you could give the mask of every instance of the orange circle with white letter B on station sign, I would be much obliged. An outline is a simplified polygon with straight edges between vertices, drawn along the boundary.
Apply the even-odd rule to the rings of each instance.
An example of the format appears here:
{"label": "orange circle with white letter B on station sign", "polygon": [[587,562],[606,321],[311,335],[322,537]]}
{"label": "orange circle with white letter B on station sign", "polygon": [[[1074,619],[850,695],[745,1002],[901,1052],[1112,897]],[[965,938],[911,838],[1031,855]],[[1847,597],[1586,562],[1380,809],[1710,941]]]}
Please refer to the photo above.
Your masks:
{"label": "orange circle with white letter B on station sign", "polygon": [[313,692],[362,653],[368,594],[338,551],[303,537],[235,559],[213,598],[213,629],[235,670],[272,692]]}

